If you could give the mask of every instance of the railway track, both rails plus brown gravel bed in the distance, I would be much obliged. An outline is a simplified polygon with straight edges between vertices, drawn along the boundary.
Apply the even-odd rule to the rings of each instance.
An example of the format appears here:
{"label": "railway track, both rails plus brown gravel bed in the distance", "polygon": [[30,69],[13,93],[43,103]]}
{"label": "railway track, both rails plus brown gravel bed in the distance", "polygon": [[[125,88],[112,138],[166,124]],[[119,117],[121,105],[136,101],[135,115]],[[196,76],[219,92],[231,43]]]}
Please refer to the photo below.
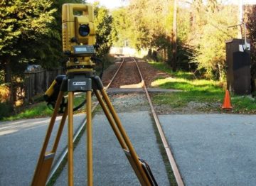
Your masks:
{"label": "railway track, both rails plus brown gravel bed in the distance", "polygon": [[[116,82],[118,82],[118,83],[116,83]],[[127,88],[141,87],[141,88],[144,89],[144,92],[146,94],[146,98],[147,98],[147,100],[149,102],[149,106],[151,108],[151,114],[154,118],[154,123],[156,124],[156,128],[157,128],[157,130],[159,132],[159,135],[161,137],[161,142],[163,143],[163,146],[164,146],[164,149],[166,151],[166,155],[169,159],[169,163],[171,165],[171,168],[173,170],[176,182],[177,182],[178,185],[184,185],[183,180],[181,179],[181,174],[178,171],[176,162],[175,162],[174,157],[171,153],[171,148],[170,148],[168,142],[166,141],[166,137],[164,136],[164,131],[161,128],[159,118],[158,118],[158,116],[156,114],[156,111],[154,109],[154,106],[151,102],[151,98],[149,96],[148,89],[147,89],[146,84],[144,82],[142,72],[139,69],[137,59],[135,59],[135,58],[122,58],[122,62],[120,63],[117,71],[114,73],[114,75],[113,75],[112,79],[110,80],[109,84],[107,84],[107,86],[105,87],[106,91],[107,91],[107,89],[109,89],[111,87],[117,87],[117,84],[119,84],[120,82],[122,82],[122,84],[123,84],[121,87],[124,87],[124,88],[125,87],[127,87]],[[94,111],[96,106],[97,106],[97,104],[92,106],[92,111]],[[74,135],[74,138],[73,138],[74,142],[78,139],[78,136],[82,132],[82,129],[85,128],[85,124],[86,124],[86,119],[85,119],[85,121],[82,122],[82,124],[80,125],[78,130],[75,132],[75,135]],[[48,181],[56,173],[56,171],[60,167],[61,163],[63,162],[63,160],[65,159],[65,156],[67,154],[68,154],[68,147],[64,149],[63,153],[60,155],[60,157],[58,158],[56,163],[53,165],[53,168],[50,172],[50,176],[48,178]]]}

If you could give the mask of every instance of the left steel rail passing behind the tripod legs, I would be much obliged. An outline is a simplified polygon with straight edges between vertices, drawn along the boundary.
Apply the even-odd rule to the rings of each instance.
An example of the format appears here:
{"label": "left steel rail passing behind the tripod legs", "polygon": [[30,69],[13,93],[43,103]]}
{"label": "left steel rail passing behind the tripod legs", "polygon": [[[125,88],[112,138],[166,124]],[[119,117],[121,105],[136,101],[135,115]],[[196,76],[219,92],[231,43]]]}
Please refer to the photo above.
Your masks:
{"label": "left steel rail passing behind the tripod legs", "polygon": [[[110,80],[110,83],[107,84],[107,87],[105,87],[105,90],[107,92],[107,89],[110,87],[110,84],[112,84],[112,82],[114,81],[114,78],[117,76],[119,70],[121,69],[123,63],[124,63],[124,59],[122,59],[121,64],[119,65],[117,71],[114,73],[112,79]],[[96,106],[99,104],[99,102],[97,102],[93,107],[92,107],[92,112],[95,110]],[[85,119],[82,121],[82,124],[80,124],[80,126],[78,127],[78,129],[75,131],[75,134],[73,136],[73,143],[77,140],[79,134],[82,132],[82,128],[85,127],[86,124],[86,116]],[[68,154],[68,146],[66,146],[63,150],[62,153],[60,153],[60,155],[58,156],[58,160],[56,160],[56,162],[53,164],[53,168],[50,170],[50,175],[48,177],[48,180],[46,182],[46,185],[48,184],[48,182],[52,179],[53,175],[55,175],[56,171],[58,170],[58,168],[60,167],[61,163],[63,163],[64,158],[67,156]]]}

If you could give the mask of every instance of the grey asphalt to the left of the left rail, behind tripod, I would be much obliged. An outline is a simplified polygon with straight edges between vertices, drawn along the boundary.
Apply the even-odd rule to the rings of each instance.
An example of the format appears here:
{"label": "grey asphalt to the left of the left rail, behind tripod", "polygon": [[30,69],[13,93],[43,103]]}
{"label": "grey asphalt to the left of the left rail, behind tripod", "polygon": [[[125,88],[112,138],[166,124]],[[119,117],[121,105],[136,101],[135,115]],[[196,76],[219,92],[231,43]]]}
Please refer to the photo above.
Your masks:
{"label": "grey asphalt to the left of the left rail, behind tripod", "polygon": [[[83,119],[83,114],[74,116],[74,131]],[[0,185],[31,184],[49,121],[50,118],[41,118],[0,122]],[[53,134],[58,121],[60,117],[56,120]],[[67,143],[67,126],[65,124],[56,158]],[[50,141],[53,143],[53,138]]]}

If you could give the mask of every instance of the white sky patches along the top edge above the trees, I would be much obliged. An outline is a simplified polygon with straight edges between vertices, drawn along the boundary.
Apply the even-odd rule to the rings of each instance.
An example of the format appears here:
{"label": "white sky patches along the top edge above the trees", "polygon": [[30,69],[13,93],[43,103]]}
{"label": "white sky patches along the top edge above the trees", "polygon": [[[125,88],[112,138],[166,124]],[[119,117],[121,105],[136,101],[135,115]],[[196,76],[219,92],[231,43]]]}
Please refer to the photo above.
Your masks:
{"label": "white sky patches along the top edge above the trees", "polygon": [[[87,3],[93,4],[95,1],[100,1],[100,4],[106,6],[107,9],[114,9],[120,6],[127,5],[125,0],[87,0]],[[230,1],[230,0],[229,0]],[[232,0],[230,2],[239,2],[240,0]],[[256,4],[256,0],[242,0],[243,4]]]}

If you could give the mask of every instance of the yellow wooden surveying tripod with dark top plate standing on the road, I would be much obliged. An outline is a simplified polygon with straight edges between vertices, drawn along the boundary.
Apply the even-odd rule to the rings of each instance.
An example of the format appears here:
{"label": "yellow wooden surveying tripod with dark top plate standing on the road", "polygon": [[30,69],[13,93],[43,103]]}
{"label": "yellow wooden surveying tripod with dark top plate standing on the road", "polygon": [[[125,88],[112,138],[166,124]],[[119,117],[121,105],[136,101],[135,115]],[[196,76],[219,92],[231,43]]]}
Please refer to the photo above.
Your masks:
{"label": "yellow wooden surveying tripod with dark top plate standing on the road", "polygon": [[[119,141],[124,153],[127,155],[129,163],[132,165],[134,173],[137,175],[141,185],[157,185],[154,176],[151,173],[149,165],[139,159],[135,152],[127,133],[125,132],[119,116],[117,116],[110,98],[107,96],[100,77],[94,74],[94,72],[79,72],[70,73],[64,79],[60,87],[57,101],[55,103],[55,109],[53,116],[50,119],[46,138],[41,149],[41,154],[38,158],[38,164],[36,166],[35,173],[31,185],[46,185],[48,175],[50,173],[51,165],[58,148],[60,136],[63,131],[65,120],[68,116],[68,185],[73,185],[73,99],[74,92],[86,92],[86,133],[87,133],[87,185],[93,185],[93,170],[92,170],[92,91],[95,92],[98,102],[102,107],[102,110],[110,122],[112,130],[114,131],[117,140]],[[53,148],[50,152],[46,152],[50,135],[53,131],[55,119],[60,108],[60,102],[62,100],[64,92],[68,92],[68,106],[65,107],[60,125],[53,143]]]}

